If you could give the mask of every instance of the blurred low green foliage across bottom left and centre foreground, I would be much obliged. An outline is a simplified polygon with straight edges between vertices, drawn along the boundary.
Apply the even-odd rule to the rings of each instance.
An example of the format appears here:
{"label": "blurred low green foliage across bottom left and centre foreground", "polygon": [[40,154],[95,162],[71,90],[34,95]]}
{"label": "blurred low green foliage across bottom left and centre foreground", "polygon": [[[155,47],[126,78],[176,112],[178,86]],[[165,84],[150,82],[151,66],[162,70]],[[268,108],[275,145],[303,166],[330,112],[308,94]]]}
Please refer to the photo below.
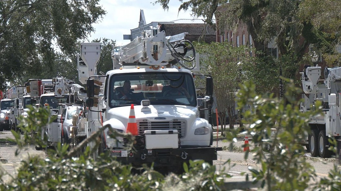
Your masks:
{"label": "blurred low green foliage across bottom left and centre foreground", "polygon": [[[21,119],[23,136],[12,132],[15,136],[12,141],[19,148],[16,154],[32,142],[46,149],[38,130],[48,123],[48,115],[49,111],[43,108],[30,108],[28,117]],[[114,132],[113,135],[117,136]],[[129,138],[132,141],[133,137]],[[7,173],[0,170],[0,190],[219,190],[224,178],[230,177],[203,161],[184,164],[182,175],[165,176],[149,167],[132,171],[131,165],[122,165],[106,153],[94,160],[92,156],[97,149],[90,147],[74,156],[70,154],[73,151],[68,151],[68,145],[58,145],[47,149],[46,158],[31,156],[22,161],[12,180],[5,180]],[[139,173],[132,173],[136,171]]]}

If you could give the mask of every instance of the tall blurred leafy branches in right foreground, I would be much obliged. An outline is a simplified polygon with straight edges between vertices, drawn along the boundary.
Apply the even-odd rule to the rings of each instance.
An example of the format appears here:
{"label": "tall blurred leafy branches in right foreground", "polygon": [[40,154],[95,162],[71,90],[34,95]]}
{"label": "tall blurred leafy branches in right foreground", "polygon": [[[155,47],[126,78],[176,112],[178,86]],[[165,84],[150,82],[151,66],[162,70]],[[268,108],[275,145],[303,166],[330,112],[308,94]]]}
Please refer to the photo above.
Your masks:
{"label": "tall blurred leafy branches in right foreground", "polygon": [[[304,149],[298,141],[307,137],[308,122],[312,116],[321,114],[321,103],[316,103],[316,110],[301,113],[300,103],[294,95],[301,92],[290,80],[284,79],[287,87],[284,98],[274,98],[273,95],[257,95],[255,85],[244,83],[238,92],[238,107],[250,105],[253,111],[243,113],[243,123],[250,124],[245,132],[251,135],[255,147],[254,160],[260,164],[257,168],[250,167],[252,181],[260,182],[265,190],[341,190],[341,172],[336,167],[328,178],[323,178],[314,185],[316,180],[314,168],[303,156]],[[240,129],[238,129],[240,131]],[[227,139],[233,141],[238,130],[227,133]],[[266,151],[269,144],[271,151]],[[245,157],[248,157],[248,152]],[[336,166],[336,164],[335,164]],[[247,177],[248,179],[248,177]]]}

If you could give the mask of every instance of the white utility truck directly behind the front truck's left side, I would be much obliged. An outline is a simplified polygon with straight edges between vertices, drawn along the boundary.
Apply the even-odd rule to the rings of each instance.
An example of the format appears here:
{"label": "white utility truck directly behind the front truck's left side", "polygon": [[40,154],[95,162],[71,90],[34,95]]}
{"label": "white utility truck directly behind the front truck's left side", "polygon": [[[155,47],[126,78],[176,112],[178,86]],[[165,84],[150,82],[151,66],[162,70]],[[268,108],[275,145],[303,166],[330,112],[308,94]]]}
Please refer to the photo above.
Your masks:
{"label": "white utility truck directly behind the front truck's left side", "polygon": [[[41,91],[45,93],[41,94],[38,107],[48,109],[50,118],[51,116],[56,117],[55,121],[41,129],[41,138],[47,141],[47,146],[54,147],[58,143],[70,143],[70,124],[68,124],[70,120],[72,121],[70,116],[76,113],[75,109],[80,108],[81,110],[84,101],[79,99],[85,97],[86,94],[84,87],[64,77],[56,77],[51,82],[51,85],[46,86],[43,86],[44,83],[42,83]],[[76,104],[81,106],[76,107]],[[41,148],[36,147],[36,149]]]}

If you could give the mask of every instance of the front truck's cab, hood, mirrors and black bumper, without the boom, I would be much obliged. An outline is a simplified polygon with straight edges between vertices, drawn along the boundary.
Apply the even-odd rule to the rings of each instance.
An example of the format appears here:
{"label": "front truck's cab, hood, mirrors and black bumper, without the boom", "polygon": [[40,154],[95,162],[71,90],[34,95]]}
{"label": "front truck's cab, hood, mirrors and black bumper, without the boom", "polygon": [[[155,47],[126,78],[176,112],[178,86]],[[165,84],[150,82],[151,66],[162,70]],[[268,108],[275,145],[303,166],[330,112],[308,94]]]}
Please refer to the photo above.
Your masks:
{"label": "front truck's cab, hood, mirrors and black bumper, without the boom", "polygon": [[[94,77],[99,79],[99,76]],[[118,132],[128,133],[132,106],[136,119],[137,135],[143,137],[143,147],[125,151],[124,143],[110,137],[109,128],[101,135],[101,152],[110,152],[123,163],[134,166],[154,163],[155,168],[178,171],[183,162],[203,159],[212,164],[220,149],[211,147],[212,126],[200,118],[194,77],[190,70],[179,68],[131,68],[111,70],[105,75],[99,96],[87,101],[89,110],[97,110],[103,118],[103,126],[110,126]],[[124,82],[129,79],[130,96],[121,97]],[[207,78],[207,87],[213,82]],[[89,80],[88,91],[95,89]],[[208,88],[208,95],[212,89]],[[97,100],[98,99],[98,100]],[[211,99],[207,96],[205,99]],[[89,114],[90,115],[90,114]],[[97,116],[97,114],[92,114]],[[100,119],[94,119],[101,122]],[[97,125],[97,128],[96,128]],[[98,129],[98,123],[89,124]],[[162,153],[162,154],[161,154]],[[129,157],[127,157],[129,156]],[[174,157],[178,156],[178,157]]]}

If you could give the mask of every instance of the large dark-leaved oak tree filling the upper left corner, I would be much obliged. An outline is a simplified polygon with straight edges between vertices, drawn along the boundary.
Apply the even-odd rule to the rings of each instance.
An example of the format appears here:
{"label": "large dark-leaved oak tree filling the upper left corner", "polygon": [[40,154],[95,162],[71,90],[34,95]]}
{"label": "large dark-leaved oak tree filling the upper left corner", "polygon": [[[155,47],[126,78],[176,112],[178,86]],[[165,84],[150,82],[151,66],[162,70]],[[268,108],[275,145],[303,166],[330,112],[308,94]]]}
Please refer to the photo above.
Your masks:
{"label": "large dark-leaved oak tree filling the upper left corner", "polygon": [[[0,86],[26,73],[53,69],[60,54],[74,53],[105,11],[99,0],[0,1]],[[40,75],[36,75],[40,76]]]}

